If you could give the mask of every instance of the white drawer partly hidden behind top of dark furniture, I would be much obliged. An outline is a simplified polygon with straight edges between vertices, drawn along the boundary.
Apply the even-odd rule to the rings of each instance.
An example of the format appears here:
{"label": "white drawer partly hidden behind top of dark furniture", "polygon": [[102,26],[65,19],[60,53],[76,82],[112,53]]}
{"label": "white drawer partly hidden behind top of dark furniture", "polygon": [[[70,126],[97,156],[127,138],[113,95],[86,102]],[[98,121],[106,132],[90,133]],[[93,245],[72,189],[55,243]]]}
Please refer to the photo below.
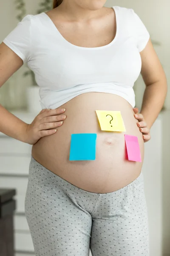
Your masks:
{"label": "white drawer partly hidden behind top of dark furniture", "polygon": [[0,176],[1,188],[16,189],[16,212],[25,212],[25,197],[28,184],[28,177]]}

